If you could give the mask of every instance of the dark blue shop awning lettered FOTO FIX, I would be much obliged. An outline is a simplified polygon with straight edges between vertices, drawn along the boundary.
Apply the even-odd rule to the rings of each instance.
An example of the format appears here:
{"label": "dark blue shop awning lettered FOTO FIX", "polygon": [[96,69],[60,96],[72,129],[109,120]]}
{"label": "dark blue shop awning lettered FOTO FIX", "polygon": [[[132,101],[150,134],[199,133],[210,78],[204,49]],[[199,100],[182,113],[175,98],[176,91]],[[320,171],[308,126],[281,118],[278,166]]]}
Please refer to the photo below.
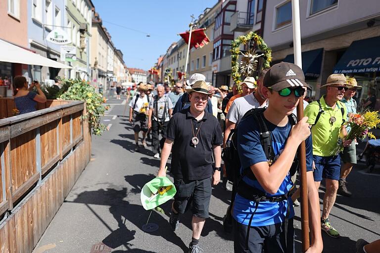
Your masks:
{"label": "dark blue shop awning lettered FOTO FIX", "polygon": [[380,36],[354,41],[334,67],[335,74],[380,71]]}

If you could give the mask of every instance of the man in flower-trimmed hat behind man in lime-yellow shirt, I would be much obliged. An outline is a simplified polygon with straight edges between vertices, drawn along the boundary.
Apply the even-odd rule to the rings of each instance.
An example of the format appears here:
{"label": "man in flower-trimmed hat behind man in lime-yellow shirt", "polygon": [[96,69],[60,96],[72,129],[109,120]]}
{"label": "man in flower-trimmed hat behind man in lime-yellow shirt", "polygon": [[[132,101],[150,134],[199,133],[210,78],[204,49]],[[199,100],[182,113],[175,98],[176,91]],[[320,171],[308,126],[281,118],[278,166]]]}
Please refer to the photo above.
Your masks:
{"label": "man in flower-trimmed hat behind man in lime-yellow shirt", "polygon": [[[355,96],[356,90],[362,88],[356,82],[355,78],[347,78],[347,83],[352,85],[344,92],[344,97],[342,102],[347,108],[347,114],[353,113],[356,114],[356,101],[353,98]],[[348,120],[348,118],[347,118]],[[347,132],[350,131],[350,127],[346,127]],[[347,189],[347,181],[346,178],[348,174],[351,172],[352,167],[356,164],[356,141],[353,141],[350,146],[345,147],[342,152],[342,160],[343,166],[340,169],[340,179],[339,179],[339,189],[338,194],[351,197],[351,192]]]}

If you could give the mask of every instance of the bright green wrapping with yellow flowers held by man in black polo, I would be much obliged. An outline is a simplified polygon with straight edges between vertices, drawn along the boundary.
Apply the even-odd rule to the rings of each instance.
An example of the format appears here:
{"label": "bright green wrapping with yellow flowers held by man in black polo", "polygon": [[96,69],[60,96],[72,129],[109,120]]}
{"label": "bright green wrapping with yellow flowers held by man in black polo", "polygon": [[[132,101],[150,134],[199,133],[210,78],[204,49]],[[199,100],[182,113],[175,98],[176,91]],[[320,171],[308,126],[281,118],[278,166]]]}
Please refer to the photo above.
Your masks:
{"label": "bright green wrapping with yellow flowers held by man in black polo", "polygon": [[[171,188],[161,195],[159,193],[160,188],[167,186],[171,186]],[[172,199],[176,192],[176,187],[166,176],[153,178],[142,187],[140,193],[142,207],[145,210],[156,208]]]}

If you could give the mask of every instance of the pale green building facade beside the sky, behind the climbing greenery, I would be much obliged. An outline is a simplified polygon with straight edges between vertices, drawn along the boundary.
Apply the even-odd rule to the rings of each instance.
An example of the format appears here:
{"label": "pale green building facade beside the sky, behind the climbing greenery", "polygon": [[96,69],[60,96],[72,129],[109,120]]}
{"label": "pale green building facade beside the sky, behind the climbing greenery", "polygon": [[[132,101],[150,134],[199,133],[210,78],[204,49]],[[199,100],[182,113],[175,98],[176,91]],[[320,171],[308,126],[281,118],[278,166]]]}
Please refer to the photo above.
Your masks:
{"label": "pale green building facade beside the sky, behind the climbing greenery", "polygon": [[87,51],[91,52],[91,50],[87,47],[91,45],[87,44],[87,41],[90,41],[91,36],[93,7],[91,0],[66,0],[66,31],[72,41],[70,45],[77,48],[76,59],[70,63],[74,69],[69,72],[69,78],[88,80],[90,73],[88,73],[87,64],[90,65],[91,56],[88,57]]}

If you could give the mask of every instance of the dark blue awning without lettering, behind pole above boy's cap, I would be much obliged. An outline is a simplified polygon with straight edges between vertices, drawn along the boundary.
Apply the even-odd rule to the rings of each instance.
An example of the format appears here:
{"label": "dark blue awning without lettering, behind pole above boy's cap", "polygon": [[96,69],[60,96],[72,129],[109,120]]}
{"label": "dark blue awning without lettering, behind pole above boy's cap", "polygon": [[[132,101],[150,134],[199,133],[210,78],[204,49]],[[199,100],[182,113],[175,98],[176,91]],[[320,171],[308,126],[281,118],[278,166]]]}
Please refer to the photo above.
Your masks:
{"label": "dark blue awning without lettering, behind pole above boy's cap", "polygon": [[[317,78],[321,74],[323,48],[302,52],[302,70],[305,77]],[[286,55],[285,62],[294,63],[294,54]]]}

